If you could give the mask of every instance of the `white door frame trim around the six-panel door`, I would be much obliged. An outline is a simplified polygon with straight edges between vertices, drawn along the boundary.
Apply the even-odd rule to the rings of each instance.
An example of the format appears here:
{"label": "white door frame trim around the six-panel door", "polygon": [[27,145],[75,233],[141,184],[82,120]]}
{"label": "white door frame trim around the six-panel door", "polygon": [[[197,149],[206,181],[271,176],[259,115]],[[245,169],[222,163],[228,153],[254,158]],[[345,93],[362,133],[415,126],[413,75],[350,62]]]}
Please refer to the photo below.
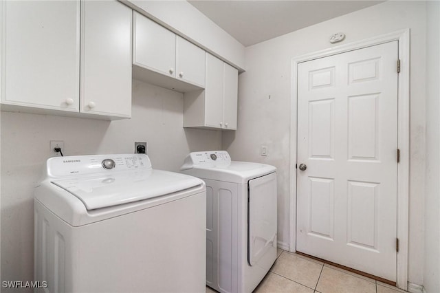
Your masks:
{"label": "white door frame trim around the six-panel door", "polygon": [[[400,73],[397,85],[397,147],[400,150],[400,161],[397,164],[397,287],[406,290],[408,287],[408,207],[409,207],[409,142],[410,142],[410,30],[399,30],[381,34],[370,39],[339,45],[292,58],[291,72],[291,109],[290,109],[290,213],[289,213],[289,251],[296,252],[296,160],[297,160],[297,111],[298,111],[298,63],[311,61],[335,54],[349,52],[398,41]],[[397,67],[397,61],[396,61]]]}

